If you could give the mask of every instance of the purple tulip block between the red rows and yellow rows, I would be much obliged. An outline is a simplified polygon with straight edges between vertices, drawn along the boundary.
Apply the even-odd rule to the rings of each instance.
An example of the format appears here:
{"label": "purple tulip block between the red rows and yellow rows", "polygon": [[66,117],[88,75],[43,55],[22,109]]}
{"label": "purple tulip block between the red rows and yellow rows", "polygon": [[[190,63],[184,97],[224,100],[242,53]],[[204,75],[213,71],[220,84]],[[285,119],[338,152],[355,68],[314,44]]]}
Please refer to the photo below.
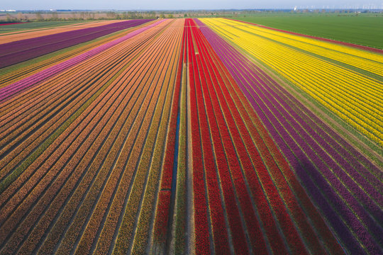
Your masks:
{"label": "purple tulip block between the red rows and yellow rows", "polygon": [[196,22],[347,249],[364,253],[356,236],[372,254],[382,252],[382,183],[367,170],[379,169],[270,76]]}

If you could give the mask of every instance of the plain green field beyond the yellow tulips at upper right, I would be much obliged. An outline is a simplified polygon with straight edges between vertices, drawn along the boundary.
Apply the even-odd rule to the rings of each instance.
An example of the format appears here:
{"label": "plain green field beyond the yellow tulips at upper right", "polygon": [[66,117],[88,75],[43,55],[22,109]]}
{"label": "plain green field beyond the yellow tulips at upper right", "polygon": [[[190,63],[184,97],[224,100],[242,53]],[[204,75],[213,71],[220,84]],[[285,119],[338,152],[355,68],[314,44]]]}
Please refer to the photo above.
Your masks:
{"label": "plain green field beyond the yellow tulips at upper right", "polygon": [[233,18],[305,35],[383,49],[382,13],[260,13]]}

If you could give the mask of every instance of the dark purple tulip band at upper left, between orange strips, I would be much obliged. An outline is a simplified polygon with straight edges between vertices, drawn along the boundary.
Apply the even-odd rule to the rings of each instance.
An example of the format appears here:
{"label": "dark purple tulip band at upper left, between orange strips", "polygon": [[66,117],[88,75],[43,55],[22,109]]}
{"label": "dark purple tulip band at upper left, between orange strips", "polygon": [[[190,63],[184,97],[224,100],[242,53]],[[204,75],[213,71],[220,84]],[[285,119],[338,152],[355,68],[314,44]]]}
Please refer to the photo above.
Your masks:
{"label": "dark purple tulip band at upper left, between orange strips", "polygon": [[94,28],[84,28],[80,30],[67,31],[53,35],[45,35],[38,38],[30,38],[9,42],[0,47],[0,68],[8,67],[35,57],[62,50],[82,42],[94,40],[104,35],[139,26],[146,23],[148,19],[121,21]]}

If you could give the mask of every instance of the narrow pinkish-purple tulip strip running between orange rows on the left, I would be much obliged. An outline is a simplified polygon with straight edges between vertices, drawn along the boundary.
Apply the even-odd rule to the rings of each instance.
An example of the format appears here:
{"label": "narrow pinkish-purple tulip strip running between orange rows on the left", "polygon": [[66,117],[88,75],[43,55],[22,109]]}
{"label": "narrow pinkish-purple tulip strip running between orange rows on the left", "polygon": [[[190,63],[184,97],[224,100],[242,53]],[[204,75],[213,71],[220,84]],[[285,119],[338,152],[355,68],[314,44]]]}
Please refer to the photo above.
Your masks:
{"label": "narrow pinkish-purple tulip strip running between orange rows on the left", "polygon": [[55,64],[54,66],[48,67],[47,69],[33,74],[30,77],[26,77],[25,79],[21,79],[20,81],[16,81],[15,83],[10,84],[9,86],[1,88],[0,103],[6,101],[7,99],[11,98],[15,94],[20,93],[21,91],[29,89],[31,86],[36,86],[40,84],[40,82],[45,81],[45,79],[48,79],[49,77],[52,77],[53,75],[58,74],[64,71],[65,69],[73,67],[75,64],[79,64],[80,62],[83,62],[84,60],[87,60],[90,57],[93,57],[94,55],[97,55],[100,52],[103,52],[104,50],[107,50],[120,42],[128,40],[129,38],[132,38],[133,36],[138,35],[139,33],[142,33],[143,31],[162,23],[163,21],[165,20],[157,21],[156,23],[153,23],[150,26],[145,26],[144,28],[139,28],[138,30],[128,33],[127,35],[124,35],[121,38],[118,38],[111,42],[107,42],[106,44],[100,45],[99,47],[89,50],[88,52],[84,52],[81,55],[77,55],[76,57],[73,57],[70,60],[66,60],[65,62]]}

